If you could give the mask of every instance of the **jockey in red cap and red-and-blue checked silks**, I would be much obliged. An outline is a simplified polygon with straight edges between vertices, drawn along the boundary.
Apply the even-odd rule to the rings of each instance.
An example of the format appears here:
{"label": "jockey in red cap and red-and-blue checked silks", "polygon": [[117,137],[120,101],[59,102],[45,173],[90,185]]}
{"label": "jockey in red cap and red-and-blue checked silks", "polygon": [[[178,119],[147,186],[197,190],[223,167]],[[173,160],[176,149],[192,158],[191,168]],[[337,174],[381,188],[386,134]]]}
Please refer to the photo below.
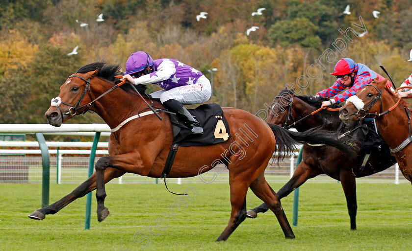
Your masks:
{"label": "jockey in red cap and red-and-blue checked silks", "polygon": [[[384,77],[375,71],[363,64],[355,63],[355,61],[350,58],[342,58],[339,60],[335,65],[334,72],[331,74],[335,75],[337,78],[335,84],[316,94],[316,96],[333,97],[329,101],[323,101],[322,107],[345,101],[350,96],[355,95],[356,92],[362,89],[365,85],[370,84],[376,77],[379,78],[379,81],[385,80]],[[392,84],[389,81],[387,81],[386,85],[389,88],[392,87]],[[338,94],[347,87],[349,88],[348,90]]]}

